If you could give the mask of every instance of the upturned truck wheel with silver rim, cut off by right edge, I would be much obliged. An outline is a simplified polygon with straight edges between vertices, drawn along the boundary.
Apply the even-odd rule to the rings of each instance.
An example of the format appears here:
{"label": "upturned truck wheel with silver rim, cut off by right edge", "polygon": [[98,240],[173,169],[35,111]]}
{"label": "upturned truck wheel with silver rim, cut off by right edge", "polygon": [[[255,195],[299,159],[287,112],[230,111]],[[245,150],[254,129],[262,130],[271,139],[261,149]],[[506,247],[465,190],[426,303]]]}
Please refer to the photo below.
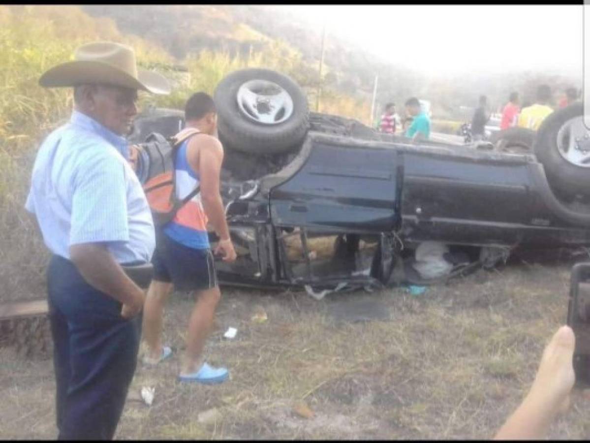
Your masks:
{"label": "upturned truck wheel with silver rim, cut off by right edge", "polygon": [[[533,150],[545,168],[549,184],[565,195],[590,195],[590,163],[566,159],[562,152],[569,149],[571,136],[584,138],[582,103],[573,103],[550,114],[539,127]],[[580,126],[582,125],[582,126]],[[590,155],[590,153],[589,153]]]}

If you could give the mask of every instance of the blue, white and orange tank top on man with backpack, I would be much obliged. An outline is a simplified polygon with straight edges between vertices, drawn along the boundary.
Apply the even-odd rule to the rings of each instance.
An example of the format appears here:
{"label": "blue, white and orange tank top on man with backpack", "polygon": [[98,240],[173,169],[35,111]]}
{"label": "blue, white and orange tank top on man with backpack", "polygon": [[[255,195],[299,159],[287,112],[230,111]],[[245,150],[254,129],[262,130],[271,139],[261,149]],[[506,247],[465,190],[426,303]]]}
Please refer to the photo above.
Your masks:
{"label": "blue, white and orange tank top on man with backpack", "polygon": [[[196,134],[192,137],[198,137]],[[189,137],[176,152],[176,197],[185,198],[201,182],[199,175],[194,172],[186,158]],[[207,234],[207,215],[201,203],[201,192],[198,192],[182,208],[176,212],[173,220],[166,225],[163,231],[168,237],[180,244],[193,249],[209,249],[209,236]]]}

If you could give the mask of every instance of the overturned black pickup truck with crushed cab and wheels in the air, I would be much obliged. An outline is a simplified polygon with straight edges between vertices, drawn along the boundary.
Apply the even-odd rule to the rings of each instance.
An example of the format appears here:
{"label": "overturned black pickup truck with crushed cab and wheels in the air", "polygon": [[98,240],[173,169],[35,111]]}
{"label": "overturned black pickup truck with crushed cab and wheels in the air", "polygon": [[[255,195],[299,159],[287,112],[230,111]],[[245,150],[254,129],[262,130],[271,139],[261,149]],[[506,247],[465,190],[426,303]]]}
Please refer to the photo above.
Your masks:
{"label": "overturned black pickup truck with crushed cab and wheels in the air", "polygon": [[[515,155],[414,143],[310,113],[303,91],[269,70],[230,74],[214,100],[222,196],[238,252],[234,263],[218,262],[222,283],[295,285],[321,298],[440,281],[493,267],[516,247],[590,245],[581,103],[546,119],[534,155]],[[169,137],[183,125],[182,111],[148,110],[129,140],[149,148],[152,133]],[[144,149],[143,181],[159,161]]]}

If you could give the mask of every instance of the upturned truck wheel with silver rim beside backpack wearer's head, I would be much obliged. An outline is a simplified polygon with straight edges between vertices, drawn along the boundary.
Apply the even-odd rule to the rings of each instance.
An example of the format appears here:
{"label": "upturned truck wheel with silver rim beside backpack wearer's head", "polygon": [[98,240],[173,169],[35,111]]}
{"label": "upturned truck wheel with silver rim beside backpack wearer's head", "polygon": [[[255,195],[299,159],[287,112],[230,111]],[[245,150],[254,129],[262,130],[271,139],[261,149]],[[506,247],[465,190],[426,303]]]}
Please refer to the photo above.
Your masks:
{"label": "upturned truck wheel with silver rim beside backpack wearer's head", "polygon": [[218,84],[214,101],[219,138],[230,149],[256,155],[287,152],[309,129],[306,95],[275,71],[235,71]]}

